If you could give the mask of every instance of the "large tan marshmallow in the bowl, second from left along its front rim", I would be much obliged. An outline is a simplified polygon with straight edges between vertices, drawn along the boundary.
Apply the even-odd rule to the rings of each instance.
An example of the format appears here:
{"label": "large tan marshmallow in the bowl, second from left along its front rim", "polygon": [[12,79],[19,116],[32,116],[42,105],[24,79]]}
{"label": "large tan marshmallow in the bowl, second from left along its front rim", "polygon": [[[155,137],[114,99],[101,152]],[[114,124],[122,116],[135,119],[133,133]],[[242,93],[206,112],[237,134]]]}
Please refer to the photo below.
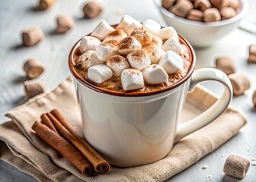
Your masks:
{"label": "large tan marshmallow in the bowl, second from left along its front rim", "polygon": [[174,6],[171,7],[171,13],[179,16],[186,17],[187,12],[194,8],[194,5],[190,1],[178,1]]}

